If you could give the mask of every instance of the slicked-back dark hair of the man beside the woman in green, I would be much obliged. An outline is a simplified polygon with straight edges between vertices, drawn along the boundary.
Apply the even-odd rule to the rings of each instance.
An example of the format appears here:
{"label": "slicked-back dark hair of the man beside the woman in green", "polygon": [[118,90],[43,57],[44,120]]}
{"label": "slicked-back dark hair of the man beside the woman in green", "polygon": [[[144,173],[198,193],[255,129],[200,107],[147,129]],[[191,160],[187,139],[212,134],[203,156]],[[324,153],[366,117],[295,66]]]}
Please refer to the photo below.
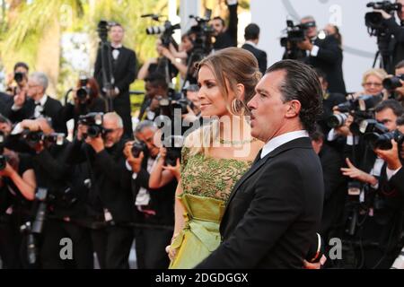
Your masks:
{"label": "slicked-back dark hair of the man beside the woman in green", "polygon": [[279,61],[271,65],[266,74],[277,71],[285,71],[285,79],[278,87],[283,101],[300,101],[300,121],[303,128],[311,133],[322,113],[322,90],[317,74],[312,67],[296,60]]}

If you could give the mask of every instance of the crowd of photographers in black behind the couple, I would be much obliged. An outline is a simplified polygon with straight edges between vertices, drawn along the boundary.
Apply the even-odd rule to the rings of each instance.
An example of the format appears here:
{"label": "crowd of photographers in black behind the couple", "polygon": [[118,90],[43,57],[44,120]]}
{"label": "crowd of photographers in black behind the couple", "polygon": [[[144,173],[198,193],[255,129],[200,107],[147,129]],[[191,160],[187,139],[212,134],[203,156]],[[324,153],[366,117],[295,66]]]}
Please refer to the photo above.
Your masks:
{"label": "crowd of photographers in black behind the couple", "polygon": [[[128,268],[134,239],[138,268],[169,265],[165,247],[180,179],[180,148],[172,143],[184,130],[164,138],[159,123],[163,117],[180,117],[188,123],[183,126],[203,122],[194,64],[237,45],[237,1],[226,3],[227,27],[221,18],[194,17],[197,24],[180,45],[171,37],[180,27],[150,27],[148,33],[160,35],[158,57],[137,73],[135,52],[122,46],[123,27],[110,25],[110,42],[101,35],[94,77],[80,78],[64,105],[48,96],[46,74],[14,66],[0,93],[3,268],[93,268],[94,255],[101,268]],[[364,72],[363,91],[346,91],[338,27],[319,31],[308,16],[297,25],[287,22],[281,40],[284,58],[312,65],[323,89],[323,115],[311,135],[325,184],[319,232],[326,251],[330,239],[342,242],[342,258],[329,257],[326,267],[404,268],[396,260],[404,247],[404,28],[392,17],[397,11],[404,20],[401,4],[369,4],[376,10],[366,14],[366,25],[389,44],[379,45],[381,68]],[[250,24],[242,48],[265,72],[259,34]],[[145,81],[145,100],[133,128],[129,84],[136,74]],[[171,82],[177,74],[180,93]],[[69,120],[74,127],[67,140]],[[73,259],[62,256],[63,239],[72,241]]]}

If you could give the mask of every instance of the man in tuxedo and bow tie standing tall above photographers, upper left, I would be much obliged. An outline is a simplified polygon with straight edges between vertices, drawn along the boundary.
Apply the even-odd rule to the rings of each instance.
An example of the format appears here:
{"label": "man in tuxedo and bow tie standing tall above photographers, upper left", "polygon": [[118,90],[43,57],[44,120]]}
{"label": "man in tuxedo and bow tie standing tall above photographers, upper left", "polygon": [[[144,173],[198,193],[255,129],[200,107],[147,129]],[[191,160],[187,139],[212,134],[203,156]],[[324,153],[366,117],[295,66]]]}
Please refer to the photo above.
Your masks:
{"label": "man in tuxedo and bow tie standing tall above photographers, upper left", "polygon": [[[129,86],[136,79],[136,53],[135,51],[122,46],[125,36],[125,30],[119,23],[114,23],[110,27],[110,47],[106,47],[106,55],[102,60],[101,49],[98,51],[97,59],[94,67],[94,77],[100,84],[101,91],[105,95],[107,93],[106,83],[104,83],[102,69],[113,78],[111,91],[108,92],[113,100],[109,100],[110,111],[116,111],[124,122],[124,132],[129,138],[133,137],[132,116],[129,96]],[[109,65],[102,66],[102,63]]]}

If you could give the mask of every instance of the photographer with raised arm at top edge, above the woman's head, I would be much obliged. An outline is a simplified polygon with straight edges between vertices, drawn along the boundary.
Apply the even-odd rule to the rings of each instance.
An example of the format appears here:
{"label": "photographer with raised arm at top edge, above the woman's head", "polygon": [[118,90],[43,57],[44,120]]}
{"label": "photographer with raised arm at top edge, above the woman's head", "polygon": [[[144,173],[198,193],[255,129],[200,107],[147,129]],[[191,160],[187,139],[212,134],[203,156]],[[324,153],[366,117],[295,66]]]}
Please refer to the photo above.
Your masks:
{"label": "photographer with raised arm at top edge, above the woman's head", "polygon": [[[215,30],[215,43],[214,49],[220,50],[222,48],[237,47],[237,25],[239,22],[237,8],[237,0],[226,0],[229,9],[229,25],[226,28],[225,22],[221,17],[215,17],[210,22]],[[213,7],[212,7],[213,8]]]}

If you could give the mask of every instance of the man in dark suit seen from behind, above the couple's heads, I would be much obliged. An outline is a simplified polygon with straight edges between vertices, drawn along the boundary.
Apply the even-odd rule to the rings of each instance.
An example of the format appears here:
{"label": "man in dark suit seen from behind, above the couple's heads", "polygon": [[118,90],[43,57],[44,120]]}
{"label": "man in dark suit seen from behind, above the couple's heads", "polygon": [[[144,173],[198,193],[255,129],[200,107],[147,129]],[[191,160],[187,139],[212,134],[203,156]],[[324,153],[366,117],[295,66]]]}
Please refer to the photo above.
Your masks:
{"label": "man in dark suit seen from behind, above the couple's heads", "polygon": [[267,71],[267,53],[257,48],[259,42],[259,26],[251,23],[244,30],[245,43],[242,48],[250,51],[259,62],[259,72],[265,74]]}

